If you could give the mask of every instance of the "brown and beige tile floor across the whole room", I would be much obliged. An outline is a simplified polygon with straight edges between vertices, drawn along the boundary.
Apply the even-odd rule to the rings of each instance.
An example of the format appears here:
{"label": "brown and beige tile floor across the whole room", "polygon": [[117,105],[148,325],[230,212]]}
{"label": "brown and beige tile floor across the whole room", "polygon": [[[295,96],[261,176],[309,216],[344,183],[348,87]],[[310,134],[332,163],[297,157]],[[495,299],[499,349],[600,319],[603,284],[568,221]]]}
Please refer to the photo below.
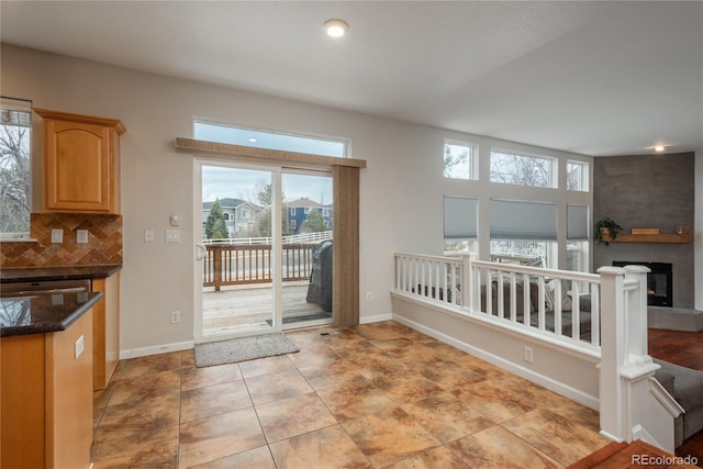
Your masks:
{"label": "brown and beige tile floor across the whole room", "polygon": [[96,469],[561,468],[609,443],[596,412],[392,321],[288,335],[234,365],[121,361]]}

